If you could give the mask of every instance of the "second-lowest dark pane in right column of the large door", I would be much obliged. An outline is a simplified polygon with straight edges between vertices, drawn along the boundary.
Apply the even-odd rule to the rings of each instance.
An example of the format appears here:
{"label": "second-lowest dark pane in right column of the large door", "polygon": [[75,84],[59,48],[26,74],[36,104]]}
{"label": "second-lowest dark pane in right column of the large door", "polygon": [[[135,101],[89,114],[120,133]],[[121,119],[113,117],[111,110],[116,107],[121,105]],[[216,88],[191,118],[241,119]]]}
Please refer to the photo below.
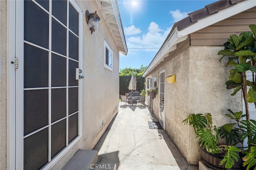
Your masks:
{"label": "second-lowest dark pane in right column of the large door", "polygon": [[68,88],[68,114],[78,111],[78,87]]}

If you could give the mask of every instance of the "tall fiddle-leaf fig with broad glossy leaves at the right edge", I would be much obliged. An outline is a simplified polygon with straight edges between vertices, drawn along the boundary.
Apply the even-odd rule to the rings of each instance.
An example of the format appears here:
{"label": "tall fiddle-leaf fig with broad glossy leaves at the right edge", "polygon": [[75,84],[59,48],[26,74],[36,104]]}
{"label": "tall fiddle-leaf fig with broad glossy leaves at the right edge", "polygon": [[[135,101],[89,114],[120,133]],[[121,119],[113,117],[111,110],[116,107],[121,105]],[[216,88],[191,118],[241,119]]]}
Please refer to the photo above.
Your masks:
{"label": "tall fiddle-leaf fig with broad glossy leaves at the right edge", "polygon": [[[225,49],[218,52],[219,55],[228,57],[226,66],[235,66],[230,70],[229,80],[226,81],[227,89],[234,89],[231,95],[242,90],[246,121],[241,121],[240,138],[241,140],[248,138],[247,149],[242,151],[245,155],[243,166],[246,169],[256,165],[256,121],[250,120],[248,108],[248,103],[254,103],[256,107],[256,25],[249,27],[252,32],[243,32],[239,36],[231,35],[224,43]],[[252,74],[252,81],[246,79],[248,71]]]}

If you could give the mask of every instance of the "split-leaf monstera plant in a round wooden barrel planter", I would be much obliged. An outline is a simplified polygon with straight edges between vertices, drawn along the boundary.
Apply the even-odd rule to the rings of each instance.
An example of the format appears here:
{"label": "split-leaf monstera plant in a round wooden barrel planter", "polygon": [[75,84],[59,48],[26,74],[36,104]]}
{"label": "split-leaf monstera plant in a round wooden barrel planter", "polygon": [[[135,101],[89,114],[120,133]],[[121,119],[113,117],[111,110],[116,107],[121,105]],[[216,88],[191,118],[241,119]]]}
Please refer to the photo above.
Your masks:
{"label": "split-leaf monstera plant in a round wooden barrel planter", "polygon": [[[182,121],[184,124],[189,123],[193,126],[204,164],[214,170],[239,168],[238,152],[240,149],[234,145],[242,143],[242,140],[239,138],[239,129],[235,128],[234,125],[238,125],[238,122],[244,116],[242,116],[242,112],[233,113],[230,111],[230,113],[232,115],[226,114],[226,116],[236,120],[237,123],[228,123],[219,128],[212,126],[212,115],[210,113],[206,115],[190,114]],[[225,138],[226,142],[220,142],[220,138]]]}

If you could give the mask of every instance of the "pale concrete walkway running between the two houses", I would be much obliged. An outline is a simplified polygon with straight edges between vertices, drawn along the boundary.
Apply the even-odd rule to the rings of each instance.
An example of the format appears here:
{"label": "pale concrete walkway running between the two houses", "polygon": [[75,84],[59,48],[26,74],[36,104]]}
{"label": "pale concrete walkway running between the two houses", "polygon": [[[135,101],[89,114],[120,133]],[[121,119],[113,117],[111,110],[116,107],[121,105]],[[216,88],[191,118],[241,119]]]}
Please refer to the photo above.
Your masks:
{"label": "pale concrete walkway running between the two houses", "polygon": [[188,165],[164,130],[150,129],[148,121],[157,119],[146,106],[122,102],[94,148],[98,162],[114,163],[118,170],[198,170]]}

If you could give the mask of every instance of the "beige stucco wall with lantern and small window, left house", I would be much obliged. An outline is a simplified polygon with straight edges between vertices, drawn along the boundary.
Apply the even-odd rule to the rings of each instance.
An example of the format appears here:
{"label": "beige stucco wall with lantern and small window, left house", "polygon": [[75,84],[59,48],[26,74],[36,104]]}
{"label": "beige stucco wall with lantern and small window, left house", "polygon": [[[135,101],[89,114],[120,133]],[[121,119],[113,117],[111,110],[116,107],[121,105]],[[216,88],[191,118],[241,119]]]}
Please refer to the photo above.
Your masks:
{"label": "beige stucco wall with lantern and small window, left house", "polygon": [[[78,149],[93,149],[98,140],[118,113],[119,105],[119,50],[114,42],[96,1],[76,1],[83,11],[83,113],[82,138],[54,166],[62,168]],[[90,34],[85,11],[100,16],[98,29]],[[104,67],[104,40],[113,51],[113,70]],[[100,123],[103,121],[103,127]]]}

